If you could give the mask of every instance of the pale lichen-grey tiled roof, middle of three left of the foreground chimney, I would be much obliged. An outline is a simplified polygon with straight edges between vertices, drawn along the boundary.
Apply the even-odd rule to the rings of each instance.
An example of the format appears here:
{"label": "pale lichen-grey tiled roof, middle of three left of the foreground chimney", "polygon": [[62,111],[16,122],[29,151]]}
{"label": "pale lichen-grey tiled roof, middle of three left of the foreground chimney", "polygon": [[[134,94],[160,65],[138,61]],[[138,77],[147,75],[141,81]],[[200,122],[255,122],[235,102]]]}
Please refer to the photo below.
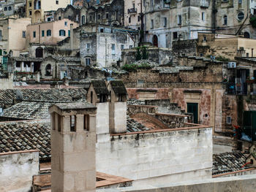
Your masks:
{"label": "pale lichen-grey tiled roof, middle of three left of the foreground chimney", "polygon": [[8,118],[20,118],[23,120],[50,119],[48,102],[22,101],[4,110],[1,116]]}

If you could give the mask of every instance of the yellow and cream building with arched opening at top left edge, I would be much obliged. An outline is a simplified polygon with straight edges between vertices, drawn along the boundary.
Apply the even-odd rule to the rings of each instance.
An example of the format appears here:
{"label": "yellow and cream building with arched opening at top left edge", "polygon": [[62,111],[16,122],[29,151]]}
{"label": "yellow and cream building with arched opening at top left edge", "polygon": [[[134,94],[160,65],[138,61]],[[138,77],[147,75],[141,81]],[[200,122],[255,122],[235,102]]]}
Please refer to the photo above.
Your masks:
{"label": "yellow and cream building with arched opening at top left edge", "polygon": [[32,23],[45,21],[45,12],[67,7],[70,0],[26,0],[26,17],[32,19]]}

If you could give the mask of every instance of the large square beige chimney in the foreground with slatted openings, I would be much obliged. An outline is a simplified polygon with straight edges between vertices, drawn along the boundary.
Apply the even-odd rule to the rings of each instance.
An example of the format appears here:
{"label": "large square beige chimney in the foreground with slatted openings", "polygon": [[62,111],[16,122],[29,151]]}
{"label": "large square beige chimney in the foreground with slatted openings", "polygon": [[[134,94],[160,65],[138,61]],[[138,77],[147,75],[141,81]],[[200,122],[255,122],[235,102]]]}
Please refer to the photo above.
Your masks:
{"label": "large square beige chimney in the foreground with slatted openings", "polygon": [[96,113],[89,103],[53,104],[51,191],[96,191]]}

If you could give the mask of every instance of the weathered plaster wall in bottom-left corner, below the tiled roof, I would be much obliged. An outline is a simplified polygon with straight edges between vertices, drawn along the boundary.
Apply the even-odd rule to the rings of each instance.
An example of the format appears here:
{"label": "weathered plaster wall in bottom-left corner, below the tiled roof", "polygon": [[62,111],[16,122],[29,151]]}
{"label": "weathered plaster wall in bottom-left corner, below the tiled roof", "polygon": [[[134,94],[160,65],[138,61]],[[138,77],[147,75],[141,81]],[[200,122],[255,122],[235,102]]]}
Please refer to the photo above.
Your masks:
{"label": "weathered plaster wall in bottom-left corner, below the tiled roof", "polygon": [[39,172],[39,152],[0,153],[0,191],[27,192]]}

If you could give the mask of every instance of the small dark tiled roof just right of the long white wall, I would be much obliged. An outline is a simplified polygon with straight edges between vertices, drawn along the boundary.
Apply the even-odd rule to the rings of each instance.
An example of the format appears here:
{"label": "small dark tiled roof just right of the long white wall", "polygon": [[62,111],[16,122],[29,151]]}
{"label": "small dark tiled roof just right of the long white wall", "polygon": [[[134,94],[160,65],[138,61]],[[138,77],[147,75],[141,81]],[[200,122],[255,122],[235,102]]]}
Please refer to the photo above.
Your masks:
{"label": "small dark tiled roof just right of the long white wall", "polygon": [[241,167],[246,163],[247,156],[247,154],[241,153],[241,151],[233,151],[214,155],[212,174],[236,172],[245,169],[245,167]]}

